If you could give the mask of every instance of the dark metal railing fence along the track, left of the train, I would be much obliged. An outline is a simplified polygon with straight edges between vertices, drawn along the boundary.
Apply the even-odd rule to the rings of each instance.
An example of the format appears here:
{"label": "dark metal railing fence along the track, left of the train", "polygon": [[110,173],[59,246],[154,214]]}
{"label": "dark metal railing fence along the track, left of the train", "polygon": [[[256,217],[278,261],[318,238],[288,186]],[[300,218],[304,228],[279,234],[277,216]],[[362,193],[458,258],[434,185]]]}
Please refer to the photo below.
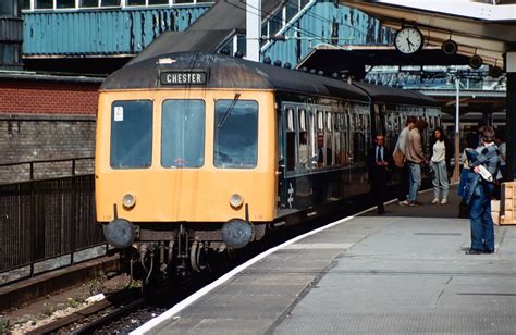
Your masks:
{"label": "dark metal railing fence along the track, left of the train", "polygon": [[[29,166],[28,181],[0,185],[0,285],[106,253],[95,220],[94,175],[76,174],[84,160],[93,164],[93,158],[0,164]],[[38,165],[51,171],[63,163],[71,165],[69,176],[35,179]]]}

